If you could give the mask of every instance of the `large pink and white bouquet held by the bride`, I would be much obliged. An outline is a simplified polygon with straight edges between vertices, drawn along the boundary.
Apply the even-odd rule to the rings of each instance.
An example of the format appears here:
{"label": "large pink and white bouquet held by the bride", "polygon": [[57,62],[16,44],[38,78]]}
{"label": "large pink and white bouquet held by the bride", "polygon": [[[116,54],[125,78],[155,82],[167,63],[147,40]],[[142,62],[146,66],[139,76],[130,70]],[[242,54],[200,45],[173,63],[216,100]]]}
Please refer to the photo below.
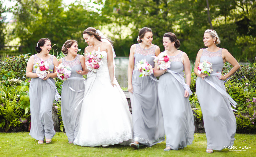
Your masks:
{"label": "large pink and white bouquet held by the bride", "polygon": [[86,67],[88,70],[97,72],[97,70],[100,68],[100,65],[103,63],[102,58],[104,57],[101,54],[100,48],[98,51],[93,50],[92,52],[88,52],[86,55]]}

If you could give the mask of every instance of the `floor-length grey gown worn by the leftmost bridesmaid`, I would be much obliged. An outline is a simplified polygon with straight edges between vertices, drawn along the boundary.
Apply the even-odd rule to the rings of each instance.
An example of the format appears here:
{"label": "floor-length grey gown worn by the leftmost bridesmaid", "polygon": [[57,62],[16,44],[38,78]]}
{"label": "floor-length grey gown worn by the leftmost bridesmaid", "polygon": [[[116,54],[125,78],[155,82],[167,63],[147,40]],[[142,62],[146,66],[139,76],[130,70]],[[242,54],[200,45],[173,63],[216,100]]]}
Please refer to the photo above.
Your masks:
{"label": "floor-length grey gown worn by the leftmost bridesmaid", "polygon": [[[33,55],[35,58],[34,65],[42,59]],[[32,57],[32,56],[31,56]],[[50,73],[53,72],[54,63],[53,56],[46,59],[49,63]],[[36,73],[36,69],[33,69]],[[51,85],[48,81],[51,81]],[[52,78],[47,80],[32,78],[29,86],[30,113],[31,113],[31,129],[29,135],[36,140],[44,140],[52,138],[55,135],[53,120],[51,118],[52,103],[55,98],[55,81]]]}

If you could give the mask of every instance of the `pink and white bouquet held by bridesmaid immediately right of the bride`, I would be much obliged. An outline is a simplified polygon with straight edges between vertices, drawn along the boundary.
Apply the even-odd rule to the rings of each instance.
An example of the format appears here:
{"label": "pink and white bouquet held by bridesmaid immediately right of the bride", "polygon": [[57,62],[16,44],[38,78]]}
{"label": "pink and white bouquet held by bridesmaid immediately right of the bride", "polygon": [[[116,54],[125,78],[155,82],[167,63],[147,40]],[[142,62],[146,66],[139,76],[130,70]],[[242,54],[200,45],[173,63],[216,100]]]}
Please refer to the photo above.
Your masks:
{"label": "pink and white bouquet held by bridesmaid immediately right of the bride", "polygon": [[148,64],[146,59],[143,59],[137,62],[138,71],[141,73],[140,77],[153,74],[152,65]]}

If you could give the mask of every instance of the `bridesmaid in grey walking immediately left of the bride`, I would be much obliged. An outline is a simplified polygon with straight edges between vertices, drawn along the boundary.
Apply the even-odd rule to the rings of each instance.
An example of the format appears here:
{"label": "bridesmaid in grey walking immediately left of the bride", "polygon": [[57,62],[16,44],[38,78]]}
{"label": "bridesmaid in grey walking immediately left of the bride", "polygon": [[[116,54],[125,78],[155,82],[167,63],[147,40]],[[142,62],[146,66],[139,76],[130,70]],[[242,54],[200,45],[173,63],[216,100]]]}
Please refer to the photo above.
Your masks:
{"label": "bridesmaid in grey walking immediately left of the bride", "polygon": [[71,75],[62,84],[61,89],[61,117],[68,137],[68,143],[73,143],[79,128],[79,116],[84,95],[83,75],[88,73],[84,56],[78,55],[77,41],[67,40],[61,51],[67,55],[59,60],[59,64],[69,66]]}

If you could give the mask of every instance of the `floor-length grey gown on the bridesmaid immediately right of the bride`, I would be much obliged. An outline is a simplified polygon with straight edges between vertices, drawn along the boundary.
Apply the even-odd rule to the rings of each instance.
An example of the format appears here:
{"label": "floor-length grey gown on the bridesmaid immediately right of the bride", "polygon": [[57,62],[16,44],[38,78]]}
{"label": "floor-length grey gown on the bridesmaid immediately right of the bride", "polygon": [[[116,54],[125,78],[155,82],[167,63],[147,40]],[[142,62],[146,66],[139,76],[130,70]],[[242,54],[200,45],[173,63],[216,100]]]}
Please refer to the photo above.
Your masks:
{"label": "floor-length grey gown on the bridesmaid immediately right of the bride", "polygon": [[147,146],[164,140],[163,115],[158,100],[157,82],[150,76],[139,77],[140,73],[136,68],[136,63],[146,59],[149,64],[154,66],[152,56],[155,56],[155,48],[156,45],[149,49],[143,49],[136,44],[132,74],[133,93],[130,93],[133,139]]}

